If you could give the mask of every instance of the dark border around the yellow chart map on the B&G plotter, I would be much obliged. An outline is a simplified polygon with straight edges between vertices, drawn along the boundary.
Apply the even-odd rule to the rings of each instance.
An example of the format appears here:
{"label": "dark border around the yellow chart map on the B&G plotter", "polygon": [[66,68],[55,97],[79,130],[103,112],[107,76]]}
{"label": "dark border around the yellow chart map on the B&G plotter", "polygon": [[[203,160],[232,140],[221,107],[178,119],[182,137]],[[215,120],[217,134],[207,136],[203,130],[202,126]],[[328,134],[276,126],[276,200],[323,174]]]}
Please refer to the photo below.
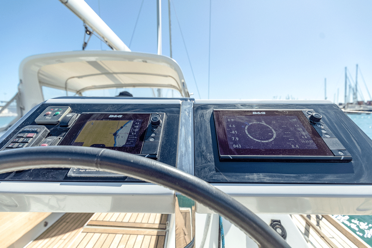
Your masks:
{"label": "dark border around the yellow chart map on the B&G plotter", "polygon": [[[109,117],[109,116],[121,117]],[[142,124],[138,131],[137,141],[134,146],[105,146],[104,148],[116,151],[128,152],[131,154],[141,154],[142,146],[145,140],[146,130],[150,121],[151,113],[82,113],[70,130],[62,139],[60,145],[74,145],[74,141],[80,134],[88,121],[92,120],[137,120],[141,119]]]}

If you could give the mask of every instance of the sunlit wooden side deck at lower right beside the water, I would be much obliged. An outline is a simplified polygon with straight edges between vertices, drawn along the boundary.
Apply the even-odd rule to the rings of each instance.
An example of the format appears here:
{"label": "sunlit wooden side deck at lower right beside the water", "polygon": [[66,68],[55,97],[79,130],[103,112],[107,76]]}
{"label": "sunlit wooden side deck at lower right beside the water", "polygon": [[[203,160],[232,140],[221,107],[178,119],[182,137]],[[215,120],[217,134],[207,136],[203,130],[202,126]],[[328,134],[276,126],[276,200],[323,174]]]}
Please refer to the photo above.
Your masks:
{"label": "sunlit wooden side deck at lower right beside the water", "polygon": [[291,215],[294,223],[314,248],[371,248],[330,215]]}

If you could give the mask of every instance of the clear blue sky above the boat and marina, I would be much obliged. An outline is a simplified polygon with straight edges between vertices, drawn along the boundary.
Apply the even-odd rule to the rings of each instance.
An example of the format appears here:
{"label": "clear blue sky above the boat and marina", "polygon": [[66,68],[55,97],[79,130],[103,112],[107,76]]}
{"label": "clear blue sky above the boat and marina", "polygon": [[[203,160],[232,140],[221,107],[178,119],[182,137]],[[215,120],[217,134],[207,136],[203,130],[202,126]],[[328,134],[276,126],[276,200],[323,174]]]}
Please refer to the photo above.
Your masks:
{"label": "clear blue sky above the boat and marina", "polygon": [[[200,97],[208,98],[209,0],[172,0]],[[87,0],[129,46],[141,0]],[[163,0],[163,54],[169,55],[168,2]],[[199,98],[175,11],[173,58]],[[344,68],[363,73],[372,93],[372,2],[212,0],[210,99],[324,99],[339,88]],[[0,100],[17,90],[18,65],[30,55],[81,50],[83,22],[58,0],[0,2]],[[157,52],[156,0],[145,0],[130,48]],[[108,49],[102,45],[103,49]],[[87,49],[101,49],[92,37]],[[368,94],[360,74],[365,100]]]}

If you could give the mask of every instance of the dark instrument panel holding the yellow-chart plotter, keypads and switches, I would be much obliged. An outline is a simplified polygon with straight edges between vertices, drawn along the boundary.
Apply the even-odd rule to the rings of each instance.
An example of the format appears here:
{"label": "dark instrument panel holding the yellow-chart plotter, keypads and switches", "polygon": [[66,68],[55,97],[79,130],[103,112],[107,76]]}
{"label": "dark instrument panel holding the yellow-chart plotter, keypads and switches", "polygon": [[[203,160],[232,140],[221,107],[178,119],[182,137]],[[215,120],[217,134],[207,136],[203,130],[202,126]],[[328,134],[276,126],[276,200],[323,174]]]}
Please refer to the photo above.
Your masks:
{"label": "dark instrument panel holding the yellow-chart plotter, keypads and switches", "polygon": [[[116,98],[112,99],[116,100]],[[57,107],[62,110],[66,109],[65,112],[57,110],[57,112],[60,111],[57,115],[64,115],[60,123],[48,122],[46,117],[56,115],[50,109]],[[41,116],[44,116],[44,119],[39,118]],[[63,118],[69,116],[76,119],[64,121]],[[23,118],[22,123],[17,124],[18,126],[0,143],[0,149],[25,149],[26,152],[29,146],[84,145],[83,143],[86,143],[86,146],[105,146],[108,149],[156,159],[175,167],[177,145],[167,144],[177,144],[179,118],[180,104],[42,103],[28,117]],[[36,119],[39,123],[35,122]],[[95,130],[84,130],[87,126],[94,126]],[[25,138],[17,137],[20,134],[25,135]],[[16,142],[13,142],[14,139]],[[13,145],[8,147],[9,144]],[[46,154],[46,156],[52,155]],[[71,176],[69,171],[68,168],[18,171],[0,174],[0,180],[140,181],[130,177],[105,175],[105,173],[97,177],[97,173],[89,175],[80,173],[80,171],[78,173],[74,171],[72,173],[74,176]]]}

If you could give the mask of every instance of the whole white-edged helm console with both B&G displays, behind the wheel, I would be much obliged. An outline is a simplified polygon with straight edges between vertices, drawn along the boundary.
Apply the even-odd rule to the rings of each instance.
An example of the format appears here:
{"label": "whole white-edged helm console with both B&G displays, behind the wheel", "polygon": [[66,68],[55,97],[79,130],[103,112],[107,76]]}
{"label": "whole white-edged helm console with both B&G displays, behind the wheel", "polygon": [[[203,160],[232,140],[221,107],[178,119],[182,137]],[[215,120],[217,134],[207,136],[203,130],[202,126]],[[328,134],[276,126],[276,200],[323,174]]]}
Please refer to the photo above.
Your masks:
{"label": "whole white-edged helm console with both B&G displays, behind the wheel", "polygon": [[[329,101],[50,99],[2,136],[0,158],[15,149],[28,155],[29,147],[53,145],[113,149],[164,162],[213,183],[257,213],[372,213],[366,205],[372,140]],[[6,199],[20,206],[0,204],[0,210],[120,212],[125,205],[135,212],[131,206],[138,200],[173,211],[167,208],[174,204],[173,191],[103,171],[41,168],[3,173],[0,181]],[[156,204],[143,204],[144,197]],[[196,210],[209,211],[199,205]]]}

